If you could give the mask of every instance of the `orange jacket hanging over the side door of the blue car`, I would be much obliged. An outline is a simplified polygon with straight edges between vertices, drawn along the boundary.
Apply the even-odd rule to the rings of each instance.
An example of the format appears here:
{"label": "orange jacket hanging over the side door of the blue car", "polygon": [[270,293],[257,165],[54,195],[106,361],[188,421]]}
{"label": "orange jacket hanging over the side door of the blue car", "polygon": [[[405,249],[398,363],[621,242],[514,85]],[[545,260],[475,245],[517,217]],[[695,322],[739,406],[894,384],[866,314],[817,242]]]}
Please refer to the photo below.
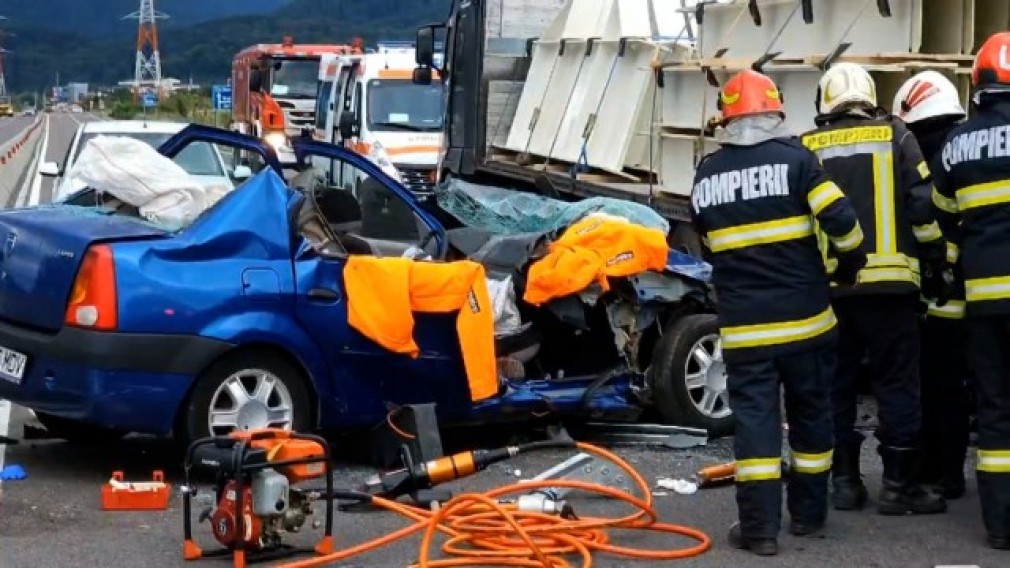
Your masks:
{"label": "orange jacket hanging over the side door of the blue car", "polygon": [[350,326],[412,358],[420,355],[412,312],[459,311],[456,328],[471,399],[498,393],[494,313],[483,266],[351,256],[343,269],[343,285]]}

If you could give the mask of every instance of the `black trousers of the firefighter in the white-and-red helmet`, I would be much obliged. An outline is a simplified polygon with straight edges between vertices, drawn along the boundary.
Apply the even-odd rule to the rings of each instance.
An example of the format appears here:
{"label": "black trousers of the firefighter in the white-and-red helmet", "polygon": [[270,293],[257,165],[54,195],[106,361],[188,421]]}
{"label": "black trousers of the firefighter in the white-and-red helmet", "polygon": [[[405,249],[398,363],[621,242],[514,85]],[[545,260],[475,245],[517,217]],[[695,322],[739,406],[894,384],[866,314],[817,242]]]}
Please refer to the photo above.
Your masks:
{"label": "black trousers of the firefighter in the white-and-red helmet", "polygon": [[964,319],[926,317],[922,323],[921,481],[962,478],[971,415],[968,325]]}

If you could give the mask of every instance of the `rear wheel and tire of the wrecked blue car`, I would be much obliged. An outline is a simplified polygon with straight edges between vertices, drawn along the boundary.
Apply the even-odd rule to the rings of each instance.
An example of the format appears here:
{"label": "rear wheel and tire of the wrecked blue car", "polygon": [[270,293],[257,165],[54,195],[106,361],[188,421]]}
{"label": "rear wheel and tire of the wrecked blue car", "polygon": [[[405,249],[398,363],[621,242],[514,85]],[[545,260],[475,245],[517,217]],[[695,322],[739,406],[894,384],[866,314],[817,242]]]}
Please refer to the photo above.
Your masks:
{"label": "rear wheel and tire of the wrecked blue car", "polygon": [[[242,396],[238,387],[244,389],[248,400],[238,400]],[[260,388],[265,390],[258,395]],[[282,416],[285,406],[290,412]],[[212,411],[220,420],[213,432]],[[231,412],[234,423],[229,428],[225,421],[230,420]],[[180,416],[177,438],[190,444],[234,430],[283,428],[307,432],[314,423],[313,414],[312,398],[297,367],[276,355],[240,352],[214,363],[197,380]]]}

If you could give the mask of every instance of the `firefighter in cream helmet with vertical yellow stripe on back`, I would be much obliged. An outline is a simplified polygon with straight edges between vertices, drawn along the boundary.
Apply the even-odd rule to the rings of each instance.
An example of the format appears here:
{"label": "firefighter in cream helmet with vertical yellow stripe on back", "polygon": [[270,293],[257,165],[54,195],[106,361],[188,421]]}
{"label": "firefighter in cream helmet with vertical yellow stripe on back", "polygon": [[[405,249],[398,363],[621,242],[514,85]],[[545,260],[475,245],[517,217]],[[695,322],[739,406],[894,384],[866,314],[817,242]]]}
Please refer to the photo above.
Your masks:
{"label": "firefighter in cream helmet with vertical yellow stripe on back", "polygon": [[[877,106],[877,89],[858,65],[842,63],[821,77],[817,128],[802,136],[852,202],[866,229],[868,262],[852,286],[833,288],[838,316],[832,504],[862,508],[863,436],[854,429],[856,377],[869,360],[878,403],[878,452],[884,462],[878,511],[936,513],[942,497],[915,479],[919,431],[919,259],[930,275],[947,269],[945,244],[929,199],[930,176],[915,136]],[[828,271],[834,263],[827,258]],[[930,282],[935,277],[930,278]]]}

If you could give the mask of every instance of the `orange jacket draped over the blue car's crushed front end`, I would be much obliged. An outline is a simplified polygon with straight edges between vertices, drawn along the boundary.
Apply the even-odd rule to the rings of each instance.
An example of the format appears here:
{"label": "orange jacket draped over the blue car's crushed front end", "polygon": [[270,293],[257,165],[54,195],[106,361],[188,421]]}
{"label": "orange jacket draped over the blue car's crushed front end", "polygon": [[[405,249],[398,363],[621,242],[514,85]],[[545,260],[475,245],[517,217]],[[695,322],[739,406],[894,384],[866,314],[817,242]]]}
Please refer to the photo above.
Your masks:
{"label": "orange jacket draped over the blue car's crushed front end", "polygon": [[529,267],[522,299],[541,305],[578,294],[596,282],[610,289],[607,278],[633,276],[667,267],[667,235],[621,217],[588,215],[565,229],[548,253]]}

